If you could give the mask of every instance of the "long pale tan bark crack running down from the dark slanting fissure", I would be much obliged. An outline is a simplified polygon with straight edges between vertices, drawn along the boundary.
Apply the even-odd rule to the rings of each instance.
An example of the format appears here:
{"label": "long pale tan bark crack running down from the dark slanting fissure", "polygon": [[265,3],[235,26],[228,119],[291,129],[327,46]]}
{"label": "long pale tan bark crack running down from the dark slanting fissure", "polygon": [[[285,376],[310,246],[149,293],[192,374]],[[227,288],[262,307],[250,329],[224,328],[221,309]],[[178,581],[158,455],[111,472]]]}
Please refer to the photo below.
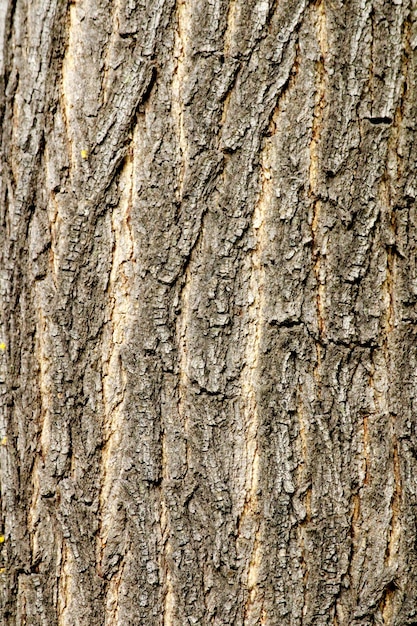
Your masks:
{"label": "long pale tan bark crack running down from the dark slanting fissure", "polygon": [[[126,372],[120,358],[120,349],[126,343],[128,329],[132,327],[135,303],[132,302],[132,278],[134,276],[134,239],[130,226],[134,183],[134,162],[125,160],[120,174],[121,196],[118,206],[111,214],[113,234],[112,265],[107,292],[109,314],[103,333],[103,449],[100,461],[101,487],[99,493],[100,514],[98,530],[98,573],[107,582],[106,623],[118,623],[118,593],[124,568],[123,558],[110,554],[108,540],[113,531],[120,472],[121,444],[123,436],[124,399]],[[136,305],[137,306],[137,305]],[[113,564],[111,564],[113,562]],[[110,563],[110,565],[109,565]],[[116,563],[116,565],[114,565]],[[116,571],[114,571],[116,569]]]}

